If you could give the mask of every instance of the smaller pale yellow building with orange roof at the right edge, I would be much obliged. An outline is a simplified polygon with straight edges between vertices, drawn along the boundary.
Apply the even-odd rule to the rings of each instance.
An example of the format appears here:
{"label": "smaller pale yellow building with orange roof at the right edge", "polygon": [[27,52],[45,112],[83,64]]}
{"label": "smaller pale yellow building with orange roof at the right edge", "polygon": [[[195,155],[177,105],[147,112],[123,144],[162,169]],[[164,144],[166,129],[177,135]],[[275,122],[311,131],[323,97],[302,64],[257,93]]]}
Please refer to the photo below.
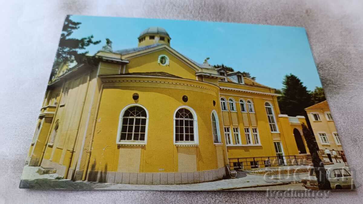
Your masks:
{"label": "smaller pale yellow building with orange roof at the right edge", "polygon": [[318,143],[319,150],[339,150],[342,151],[342,144],[335,128],[333,117],[327,101],[317,103],[305,109],[311,127]]}

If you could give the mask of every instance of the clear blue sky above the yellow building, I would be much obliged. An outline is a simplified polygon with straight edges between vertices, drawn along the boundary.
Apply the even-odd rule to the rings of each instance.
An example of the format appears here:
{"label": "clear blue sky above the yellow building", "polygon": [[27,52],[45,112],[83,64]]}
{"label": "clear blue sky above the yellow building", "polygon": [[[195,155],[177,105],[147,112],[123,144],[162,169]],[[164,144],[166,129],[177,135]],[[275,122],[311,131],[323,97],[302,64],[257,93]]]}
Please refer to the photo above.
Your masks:
{"label": "clear blue sky above the yellow building", "polygon": [[98,45],[87,47],[96,53],[110,38],[113,50],[134,48],[140,32],[151,26],[166,29],[170,45],[179,53],[202,63],[224,64],[236,71],[249,72],[264,85],[282,88],[286,74],[301,79],[308,90],[321,87],[306,32],[301,27],[270,26],[207,21],[131,19],[119,17],[72,16],[81,22],[71,37],[91,34]]}

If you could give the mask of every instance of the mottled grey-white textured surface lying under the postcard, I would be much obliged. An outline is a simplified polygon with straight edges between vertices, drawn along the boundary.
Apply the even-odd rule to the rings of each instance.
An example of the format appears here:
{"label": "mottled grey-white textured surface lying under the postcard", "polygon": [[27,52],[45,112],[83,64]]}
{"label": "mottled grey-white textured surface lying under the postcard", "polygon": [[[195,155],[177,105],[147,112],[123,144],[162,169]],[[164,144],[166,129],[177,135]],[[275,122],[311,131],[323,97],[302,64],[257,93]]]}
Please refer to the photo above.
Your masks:
{"label": "mottled grey-white textured surface lying under the postcard", "polygon": [[[362,169],[363,1],[4,1],[0,42],[0,202],[362,203],[363,187],[329,199],[269,200],[266,192],[41,191],[20,175],[67,14],[303,26],[348,162]],[[112,28],[110,28],[112,29]],[[362,183],[362,176],[357,172]]]}

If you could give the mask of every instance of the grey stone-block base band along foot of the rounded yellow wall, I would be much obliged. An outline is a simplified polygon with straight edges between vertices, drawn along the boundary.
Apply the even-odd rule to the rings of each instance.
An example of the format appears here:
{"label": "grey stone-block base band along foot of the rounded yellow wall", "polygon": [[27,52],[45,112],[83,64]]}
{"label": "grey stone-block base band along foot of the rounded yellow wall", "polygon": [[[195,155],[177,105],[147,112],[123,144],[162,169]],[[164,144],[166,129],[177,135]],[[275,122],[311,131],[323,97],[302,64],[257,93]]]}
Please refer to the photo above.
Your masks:
{"label": "grey stone-block base band along foot of the rounded yellow wall", "polygon": [[225,175],[224,167],[206,171],[169,173],[124,173],[89,170],[86,180],[105,183],[166,185],[221,180]]}

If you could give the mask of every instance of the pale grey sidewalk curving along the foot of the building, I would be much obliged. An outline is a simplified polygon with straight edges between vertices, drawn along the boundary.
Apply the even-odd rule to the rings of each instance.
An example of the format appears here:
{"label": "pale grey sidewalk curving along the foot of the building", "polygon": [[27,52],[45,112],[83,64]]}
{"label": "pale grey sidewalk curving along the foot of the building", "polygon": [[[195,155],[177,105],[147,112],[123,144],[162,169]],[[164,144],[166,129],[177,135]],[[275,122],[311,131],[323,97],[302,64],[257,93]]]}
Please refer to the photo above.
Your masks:
{"label": "pale grey sidewalk curving along the foot of the building", "polygon": [[[299,166],[306,168],[308,166]],[[281,169],[289,166],[281,167]],[[290,167],[291,168],[291,167]],[[296,183],[308,175],[308,173],[294,176],[272,176],[251,175],[248,172],[240,172],[237,179],[224,179],[219,181],[181,184],[181,185],[136,185],[117,183],[97,183],[89,181],[72,181],[69,179],[57,179],[57,174],[38,175],[38,167],[24,167],[20,188],[36,189],[103,189],[103,190],[151,190],[151,191],[216,191],[260,187],[266,185],[282,185],[286,183]],[[268,181],[268,182],[267,182]],[[284,188],[284,187],[281,187]]]}

